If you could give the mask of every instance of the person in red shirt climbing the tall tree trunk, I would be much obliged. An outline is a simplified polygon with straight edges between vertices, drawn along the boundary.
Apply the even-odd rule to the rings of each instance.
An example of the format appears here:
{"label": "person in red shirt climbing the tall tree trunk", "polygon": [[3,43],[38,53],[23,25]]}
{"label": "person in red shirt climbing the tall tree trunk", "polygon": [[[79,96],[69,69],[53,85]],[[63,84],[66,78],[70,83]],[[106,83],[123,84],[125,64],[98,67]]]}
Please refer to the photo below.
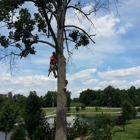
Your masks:
{"label": "person in red shirt climbing the tall tree trunk", "polygon": [[48,71],[49,71],[48,76],[50,75],[51,71],[53,71],[54,77],[57,78],[57,74],[56,74],[57,58],[56,58],[55,52],[52,52],[52,56],[50,57],[50,67],[49,67]]}

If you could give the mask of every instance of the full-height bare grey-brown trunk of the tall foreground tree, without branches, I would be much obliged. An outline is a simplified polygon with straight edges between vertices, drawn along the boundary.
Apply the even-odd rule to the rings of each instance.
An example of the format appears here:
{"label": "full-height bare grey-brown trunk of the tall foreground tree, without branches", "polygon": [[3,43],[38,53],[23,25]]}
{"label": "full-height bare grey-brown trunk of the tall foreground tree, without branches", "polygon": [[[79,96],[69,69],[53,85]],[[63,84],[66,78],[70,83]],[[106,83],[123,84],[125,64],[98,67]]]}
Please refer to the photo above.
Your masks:
{"label": "full-height bare grey-brown trunk of the tall foreground tree, without branches", "polygon": [[[66,3],[66,0],[65,0]],[[56,133],[55,140],[67,140],[66,111],[67,100],[65,91],[66,60],[63,54],[63,31],[65,21],[65,8],[57,11],[57,57],[58,57],[58,81],[57,81],[57,110],[56,110]]]}

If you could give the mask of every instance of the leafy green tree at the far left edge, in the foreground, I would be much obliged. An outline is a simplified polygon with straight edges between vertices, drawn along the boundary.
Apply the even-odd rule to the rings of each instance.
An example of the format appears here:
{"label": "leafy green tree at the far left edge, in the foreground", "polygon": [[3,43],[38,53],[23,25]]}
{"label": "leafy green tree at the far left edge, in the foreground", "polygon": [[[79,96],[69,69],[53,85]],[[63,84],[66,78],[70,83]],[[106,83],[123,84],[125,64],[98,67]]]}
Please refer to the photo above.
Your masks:
{"label": "leafy green tree at the far left edge, in the foreground", "polygon": [[6,100],[0,110],[0,131],[5,133],[5,140],[7,135],[14,127],[16,120],[16,112],[13,103]]}

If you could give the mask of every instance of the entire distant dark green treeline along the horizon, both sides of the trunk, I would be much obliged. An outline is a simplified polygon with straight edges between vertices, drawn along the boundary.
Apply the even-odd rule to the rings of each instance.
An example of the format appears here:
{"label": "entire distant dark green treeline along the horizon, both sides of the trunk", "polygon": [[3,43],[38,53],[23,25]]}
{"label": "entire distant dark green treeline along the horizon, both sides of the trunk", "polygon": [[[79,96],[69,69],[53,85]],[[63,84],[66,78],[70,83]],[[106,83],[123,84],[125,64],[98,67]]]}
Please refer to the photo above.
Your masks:
{"label": "entire distant dark green treeline along the horizon, both sides of the trunk", "polygon": [[[129,89],[118,89],[108,86],[104,90],[87,89],[80,93],[78,98],[71,99],[71,92],[67,91],[67,107],[71,102],[80,102],[86,106],[120,107],[122,101],[127,100],[133,106],[140,106],[140,88],[131,86]],[[4,98],[11,98],[15,102],[23,103],[27,97],[21,94],[0,94],[0,105]],[[56,107],[56,91],[48,91],[44,96],[39,96],[42,107]]]}

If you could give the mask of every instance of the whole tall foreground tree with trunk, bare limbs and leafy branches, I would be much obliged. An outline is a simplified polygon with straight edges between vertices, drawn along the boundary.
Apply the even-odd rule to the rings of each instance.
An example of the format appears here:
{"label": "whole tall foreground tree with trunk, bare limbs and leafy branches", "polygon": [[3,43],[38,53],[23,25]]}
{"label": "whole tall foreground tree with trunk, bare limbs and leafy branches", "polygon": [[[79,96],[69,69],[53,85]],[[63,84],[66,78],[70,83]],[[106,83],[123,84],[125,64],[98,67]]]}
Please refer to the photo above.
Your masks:
{"label": "whole tall foreground tree with trunk, bare limbs and leafy branches", "polygon": [[[89,11],[84,11],[83,3],[73,0],[1,0],[0,1],[0,21],[4,23],[4,27],[9,30],[9,35],[0,35],[0,44],[2,55],[0,60],[10,58],[10,69],[12,70],[17,57],[24,58],[29,54],[35,55],[36,50],[34,44],[44,43],[56,51],[58,58],[58,80],[57,80],[57,115],[56,115],[56,140],[66,140],[66,60],[64,56],[64,48],[71,55],[68,43],[74,43],[74,48],[87,46],[93,40],[94,34],[88,34],[84,29],[76,25],[66,25],[66,14],[69,9],[74,9],[79,15],[85,17],[90,25],[94,28],[90,15],[96,13],[100,9],[110,11],[111,0],[94,0],[94,4]],[[24,4],[32,2],[38,9],[34,15],[30,10],[23,8]],[[73,3],[74,2],[74,3]],[[111,1],[112,2],[112,1]],[[85,3],[85,2],[84,2]],[[118,0],[114,0],[116,6]],[[18,15],[16,15],[18,13]],[[16,17],[16,20],[14,20]],[[52,22],[56,23],[56,27]],[[89,28],[91,28],[91,26]],[[37,32],[38,31],[38,32]],[[45,35],[52,38],[54,43],[40,36]]]}

